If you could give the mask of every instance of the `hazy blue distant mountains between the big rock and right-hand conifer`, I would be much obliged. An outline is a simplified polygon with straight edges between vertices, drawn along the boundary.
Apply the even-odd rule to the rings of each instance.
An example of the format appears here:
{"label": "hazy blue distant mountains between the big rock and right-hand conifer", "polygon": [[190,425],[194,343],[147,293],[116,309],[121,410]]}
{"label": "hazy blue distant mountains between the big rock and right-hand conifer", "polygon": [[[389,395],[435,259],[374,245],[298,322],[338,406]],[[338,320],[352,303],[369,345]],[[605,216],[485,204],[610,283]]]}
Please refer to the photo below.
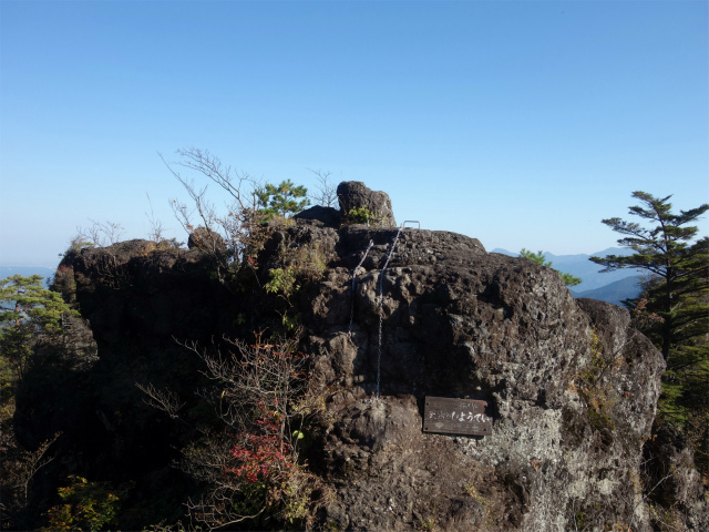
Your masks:
{"label": "hazy blue distant mountains between the big rock and right-hand conifer", "polygon": [[[506,249],[495,248],[492,253],[501,253],[512,257],[517,257],[518,253],[507,252]],[[605,257],[607,255],[633,255],[633,250],[627,247],[609,247],[592,255],[554,255],[545,253],[545,260],[552,262],[552,267],[580,277],[582,283],[571,288],[574,297],[590,297],[616,305],[620,305],[620,300],[637,297],[640,293],[640,277],[645,275],[641,269],[617,269],[602,274],[603,266],[592,263],[590,257]]]}

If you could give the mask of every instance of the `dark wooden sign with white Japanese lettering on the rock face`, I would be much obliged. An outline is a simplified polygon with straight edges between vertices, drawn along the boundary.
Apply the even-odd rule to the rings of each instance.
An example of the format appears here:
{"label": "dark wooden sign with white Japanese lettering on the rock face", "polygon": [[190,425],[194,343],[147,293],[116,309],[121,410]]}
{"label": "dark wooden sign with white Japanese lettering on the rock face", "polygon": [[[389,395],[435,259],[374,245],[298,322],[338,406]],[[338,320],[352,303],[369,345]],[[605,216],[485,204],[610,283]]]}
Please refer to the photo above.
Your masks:
{"label": "dark wooden sign with white Japanese lettering on the rock face", "polygon": [[423,431],[450,434],[490,436],[492,418],[485,416],[487,401],[427,397]]}

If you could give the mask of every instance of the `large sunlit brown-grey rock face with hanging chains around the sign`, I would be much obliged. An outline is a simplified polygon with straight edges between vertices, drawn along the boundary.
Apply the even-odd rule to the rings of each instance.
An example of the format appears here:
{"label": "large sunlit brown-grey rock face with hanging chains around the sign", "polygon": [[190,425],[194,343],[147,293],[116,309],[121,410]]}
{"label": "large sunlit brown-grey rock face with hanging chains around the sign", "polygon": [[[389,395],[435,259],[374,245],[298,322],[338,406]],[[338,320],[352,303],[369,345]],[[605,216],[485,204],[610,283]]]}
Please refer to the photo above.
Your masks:
{"label": "large sunlit brown-grey rock face with hanging chains around the sign", "polygon": [[[338,419],[326,446],[339,498],[328,519],[352,530],[435,519],[443,530],[536,531],[582,515],[647,529],[633,479],[664,361],[628,313],[577,304],[552,269],[452,233],[404,229],[382,280],[395,235],[342,228],[339,262],[312,289],[310,350]],[[592,329],[603,349],[592,350]],[[378,381],[379,400],[366,402]],[[423,434],[425,396],[486,400],[493,434]],[[608,498],[600,516],[594,508]]]}

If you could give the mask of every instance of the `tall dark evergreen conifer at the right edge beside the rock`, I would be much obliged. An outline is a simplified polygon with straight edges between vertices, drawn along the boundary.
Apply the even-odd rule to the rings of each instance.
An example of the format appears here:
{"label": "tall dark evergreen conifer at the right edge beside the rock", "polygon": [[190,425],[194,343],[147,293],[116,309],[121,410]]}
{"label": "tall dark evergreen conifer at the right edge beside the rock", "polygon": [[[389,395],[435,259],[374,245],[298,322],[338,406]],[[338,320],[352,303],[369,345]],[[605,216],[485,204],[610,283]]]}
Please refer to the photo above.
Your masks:
{"label": "tall dark evergreen conifer at the right edge beside the rock", "polygon": [[655,197],[634,192],[641,205],[629,214],[649,227],[620,218],[603,223],[625,235],[618,241],[630,247],[629,256],[590,257],[605,266],[603,272],[641,268],[649,276],[637,299],[624,304],[631,310],[636,327],[662,351],[667,369],[658,420],[679,428],[695,447],[696,461],[709,469],[709,238],[697,237],[691,226],[708,204],[672,213],[671,196]]}

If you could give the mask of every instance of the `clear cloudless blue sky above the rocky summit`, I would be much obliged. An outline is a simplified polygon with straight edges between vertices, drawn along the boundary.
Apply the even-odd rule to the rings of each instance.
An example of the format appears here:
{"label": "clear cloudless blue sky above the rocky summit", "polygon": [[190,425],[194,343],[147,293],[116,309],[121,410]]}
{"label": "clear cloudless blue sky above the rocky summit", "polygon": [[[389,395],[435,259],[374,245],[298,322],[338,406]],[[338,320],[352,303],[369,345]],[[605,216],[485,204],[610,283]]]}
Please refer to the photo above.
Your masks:
{"label": "clear cloudless blue sky above the rocky summit", "polygon": [[[594,253],[709,201],[707,1],[0,1],[0,264],[78,226],[186,241],[158,157],[389,193],[487,249]],[[700,223],[709,234],[709,222]]]}

